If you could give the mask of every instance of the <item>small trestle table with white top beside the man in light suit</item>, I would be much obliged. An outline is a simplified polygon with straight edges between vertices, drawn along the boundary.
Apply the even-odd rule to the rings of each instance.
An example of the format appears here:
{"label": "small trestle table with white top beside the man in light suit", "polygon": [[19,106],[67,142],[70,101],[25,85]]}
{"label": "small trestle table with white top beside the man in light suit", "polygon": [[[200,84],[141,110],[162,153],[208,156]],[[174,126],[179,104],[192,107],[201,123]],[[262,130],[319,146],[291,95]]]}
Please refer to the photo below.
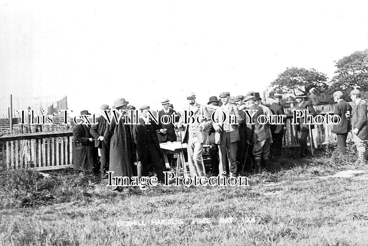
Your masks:
{"label": "small trestle table with white top beside the man in light suit", "polygon": [[[167,154],[177,152],[178,158],[176,161],[176,176],[179,176],[179,169],[180,166],[183,167],[184,176],[188,176],[187,172],[187,162],[185,162],[184,158],[184,150],[187,149],[186,143],[180,143],[180,142],[166,142],[161,143],[160,148],[163,150],[163,157],[165,159],[165,165],[167,168],[170,168],[169,159],[167,158]],[[211,145],[204,144],[203,147],[210,147]]]}

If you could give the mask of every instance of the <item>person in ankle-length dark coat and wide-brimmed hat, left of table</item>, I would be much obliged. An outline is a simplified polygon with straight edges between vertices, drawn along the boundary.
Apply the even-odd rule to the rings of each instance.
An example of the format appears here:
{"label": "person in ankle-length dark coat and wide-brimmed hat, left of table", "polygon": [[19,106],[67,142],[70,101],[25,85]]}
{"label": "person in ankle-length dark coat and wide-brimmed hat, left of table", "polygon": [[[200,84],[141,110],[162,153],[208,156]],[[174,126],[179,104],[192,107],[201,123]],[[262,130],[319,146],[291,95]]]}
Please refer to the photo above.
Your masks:
{"label": "person in ankle-length dark coat and wide-brimmed hat, left of table", "polygon": [[[133,159],[134,151],[132,147],[132,136],[130,125],[124,124],[123,114],[129,102],[126,102],[124,98],[118,98],[114,102],[113,108],[121,111],[121,118],[116,122],[114,117],[112,121],[107,125],[105,137],[103,141],[110,147],[110,163],[109,172],[112,173],[112,178],[116,176],[129,177],[134,176],[133,172]],[[119,116],[119,113],[117,116]],[[113,179],[113,190],[117,190],[117,186]]]}

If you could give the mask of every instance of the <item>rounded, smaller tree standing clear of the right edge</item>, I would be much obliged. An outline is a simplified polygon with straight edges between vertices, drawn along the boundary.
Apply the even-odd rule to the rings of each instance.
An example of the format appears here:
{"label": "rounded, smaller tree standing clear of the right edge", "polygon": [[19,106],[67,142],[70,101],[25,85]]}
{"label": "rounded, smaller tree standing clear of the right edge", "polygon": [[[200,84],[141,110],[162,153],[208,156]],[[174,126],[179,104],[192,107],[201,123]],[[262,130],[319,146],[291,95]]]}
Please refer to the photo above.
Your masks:
{"label": "rounded, smaller tree standing clear of the right edge", "polygon": [[271,87],[283,94],[319,95],[328,88],[327,75],[319,73],[314,68],[307,70],[305,68],[291,67],[277,76],[277,79],[271,83]]}

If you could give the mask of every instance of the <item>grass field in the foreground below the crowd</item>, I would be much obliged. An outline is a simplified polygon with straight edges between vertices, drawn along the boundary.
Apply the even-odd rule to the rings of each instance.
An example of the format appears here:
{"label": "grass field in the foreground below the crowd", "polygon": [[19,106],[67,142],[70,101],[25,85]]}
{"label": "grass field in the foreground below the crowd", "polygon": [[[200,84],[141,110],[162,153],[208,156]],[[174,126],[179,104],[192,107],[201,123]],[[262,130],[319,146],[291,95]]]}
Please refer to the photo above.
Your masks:
{"label": "grass field in the foreground below the crowd", "polygon": [[[275,173],[249,176],[248,187],[113,193],[104,181],[72,171],[6,173],[0,245],[368,245],[368,166],[352,164],[353,150],[345,157],[327,151],[280,158]],[[349,169],[361,172],[329,177]],[[39,180],[37,188],[32,180]],[[184,223],[151,224],[158,219]],[[118,226],[134,220],[146,225]]]}

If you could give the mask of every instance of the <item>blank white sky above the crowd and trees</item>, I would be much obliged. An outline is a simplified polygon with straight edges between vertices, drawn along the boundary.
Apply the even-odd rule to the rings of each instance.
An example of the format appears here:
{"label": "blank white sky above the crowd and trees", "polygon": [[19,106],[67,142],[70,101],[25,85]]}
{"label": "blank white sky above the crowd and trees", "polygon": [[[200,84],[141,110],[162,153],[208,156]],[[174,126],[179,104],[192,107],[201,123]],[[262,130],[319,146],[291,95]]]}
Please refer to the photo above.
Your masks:
{"label": "blank white sky above the crowd and trees", "polygon": [[123,97],[176,109],[194,91],[263,91],[286,67],[330,78],[368,48],[368,1],[0,1],[0,96],[67,95],[97,112]]}

